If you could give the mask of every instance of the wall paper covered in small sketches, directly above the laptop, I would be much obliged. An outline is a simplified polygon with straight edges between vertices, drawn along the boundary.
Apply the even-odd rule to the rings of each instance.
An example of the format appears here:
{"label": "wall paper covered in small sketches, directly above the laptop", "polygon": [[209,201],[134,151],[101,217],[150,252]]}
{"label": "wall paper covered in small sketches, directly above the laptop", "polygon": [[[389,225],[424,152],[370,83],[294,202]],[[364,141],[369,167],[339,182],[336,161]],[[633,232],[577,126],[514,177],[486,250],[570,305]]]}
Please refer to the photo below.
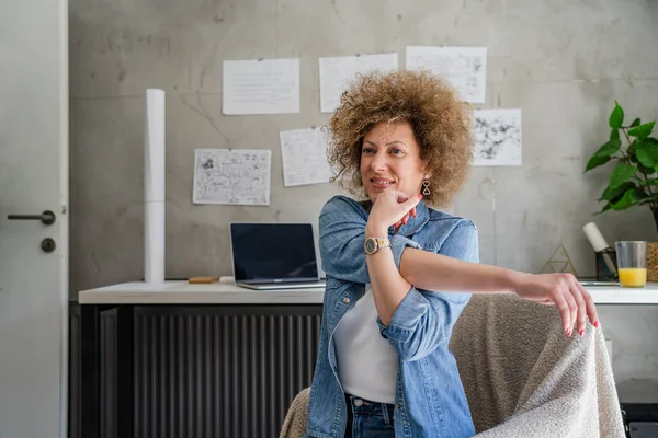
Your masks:
{"label": "wall paper covered in small sketches, directly above the laptop", "polygon": [[194,204],[270,205],[270,150],[196,149]]}

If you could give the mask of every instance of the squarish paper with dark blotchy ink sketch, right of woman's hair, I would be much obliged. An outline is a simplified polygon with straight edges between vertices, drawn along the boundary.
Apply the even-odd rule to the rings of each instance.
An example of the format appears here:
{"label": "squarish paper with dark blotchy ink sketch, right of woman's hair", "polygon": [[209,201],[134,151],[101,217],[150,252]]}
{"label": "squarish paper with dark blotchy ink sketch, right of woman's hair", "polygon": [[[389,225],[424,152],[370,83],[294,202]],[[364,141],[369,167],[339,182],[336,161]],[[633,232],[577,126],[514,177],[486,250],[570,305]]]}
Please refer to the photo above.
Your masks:
{"label": "squarish paper with dark blotchy ink sketch, right of woman's hair", "polygon": [[521,110],[475,111],[473,134],[473,165],[521,165]]}

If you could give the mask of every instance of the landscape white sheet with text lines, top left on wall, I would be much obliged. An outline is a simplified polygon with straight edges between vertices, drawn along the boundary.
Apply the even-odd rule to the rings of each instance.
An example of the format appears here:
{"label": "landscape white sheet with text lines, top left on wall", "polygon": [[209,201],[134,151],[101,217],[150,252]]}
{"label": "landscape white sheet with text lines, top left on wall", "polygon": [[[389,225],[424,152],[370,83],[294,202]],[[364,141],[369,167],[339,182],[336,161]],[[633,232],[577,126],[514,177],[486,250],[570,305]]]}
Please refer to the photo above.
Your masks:
{"label": "landscape white sheet with text lines, top left on wall", "polygon": [[223,113],[299,112],[299,59],[224,61]]}

